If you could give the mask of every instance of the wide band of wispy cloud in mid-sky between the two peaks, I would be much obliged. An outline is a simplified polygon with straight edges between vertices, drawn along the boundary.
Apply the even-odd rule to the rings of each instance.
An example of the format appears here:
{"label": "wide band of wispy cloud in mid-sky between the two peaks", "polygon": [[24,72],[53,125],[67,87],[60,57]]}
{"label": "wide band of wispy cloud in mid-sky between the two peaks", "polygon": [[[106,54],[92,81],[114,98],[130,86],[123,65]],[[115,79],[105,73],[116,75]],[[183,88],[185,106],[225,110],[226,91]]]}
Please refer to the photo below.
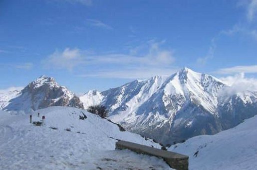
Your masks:
{"label": "wide band of wispy cloud in mid-sky between the two peaks", "polygon": [[[175,61],[172,50],[161,48],[164,41],[146,42],[145,52],[129,53],[88,53],[78,48],[66,48],[54,51],[42,61],[46,68],[86,69],[87,66],[98,69],[84,71],[80,76],[142,78],[156,74],[170,74]],[[99,69],[100,67],[100,69]]]}

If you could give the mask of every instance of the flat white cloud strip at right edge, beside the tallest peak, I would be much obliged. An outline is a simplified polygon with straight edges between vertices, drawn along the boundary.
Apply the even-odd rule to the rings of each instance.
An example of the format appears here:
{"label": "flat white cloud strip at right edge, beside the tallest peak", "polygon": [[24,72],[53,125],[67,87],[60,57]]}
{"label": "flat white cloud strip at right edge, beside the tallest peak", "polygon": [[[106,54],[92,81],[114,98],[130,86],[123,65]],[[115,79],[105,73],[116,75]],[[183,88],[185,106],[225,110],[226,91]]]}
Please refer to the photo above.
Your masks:
{"label": "flat white cloud strip at right edge, beside the tallest peak", "polygon": [[221,68],[216,71],[217,73],[222,74],[233,74],[233,73],[256,73],[257,72],[257,65],[238,65],[233,67]]}

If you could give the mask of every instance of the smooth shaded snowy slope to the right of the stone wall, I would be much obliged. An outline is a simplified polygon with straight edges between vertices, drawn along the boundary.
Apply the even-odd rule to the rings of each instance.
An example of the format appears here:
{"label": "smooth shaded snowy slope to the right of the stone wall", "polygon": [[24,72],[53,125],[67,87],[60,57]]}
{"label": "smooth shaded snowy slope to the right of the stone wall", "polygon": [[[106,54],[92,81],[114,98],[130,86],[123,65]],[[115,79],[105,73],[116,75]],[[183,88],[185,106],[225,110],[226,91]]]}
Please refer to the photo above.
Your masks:
{"label": "smooth shaded snowy slope to the right of the stone wall", "polygon": [[257,169],[257,115],[215,135],[200,135],[168,150],[189,155],[189,169]]}

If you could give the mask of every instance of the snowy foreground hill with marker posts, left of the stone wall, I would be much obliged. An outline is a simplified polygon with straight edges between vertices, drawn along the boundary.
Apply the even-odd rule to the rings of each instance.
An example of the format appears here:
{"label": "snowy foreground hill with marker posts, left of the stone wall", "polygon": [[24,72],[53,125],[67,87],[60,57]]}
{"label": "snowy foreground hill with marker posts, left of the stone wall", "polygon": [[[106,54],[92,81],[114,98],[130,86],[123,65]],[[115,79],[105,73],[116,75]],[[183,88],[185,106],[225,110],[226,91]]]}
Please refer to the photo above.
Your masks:
{"label": "snowy foreground hill with marker posts, left of the stone wall", "polygon": [[170,169],[157,157],[115,150],[116,139],[160,145],[97,115],[52,106],[33,112],[33,121],[37,112],[44,126],[30,124],[29,114],[0,111],[0,169]]}

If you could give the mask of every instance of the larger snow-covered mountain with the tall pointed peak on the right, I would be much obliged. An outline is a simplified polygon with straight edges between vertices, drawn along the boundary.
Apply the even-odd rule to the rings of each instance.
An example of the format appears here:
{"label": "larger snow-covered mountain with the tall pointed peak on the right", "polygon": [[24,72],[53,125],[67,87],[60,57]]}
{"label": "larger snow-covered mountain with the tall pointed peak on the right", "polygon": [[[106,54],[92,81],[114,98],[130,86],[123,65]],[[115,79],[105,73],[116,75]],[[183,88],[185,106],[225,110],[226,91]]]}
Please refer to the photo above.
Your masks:
{"label": "larger snow-covered mountain with the tall pointed peak on the right", "polygon": [[221,95],[229,88],[212,75],[185,67],[171,76],[135,80],[80,99],[105,105],[109,118],[130,131],[172,143],[215,134],[257,114],[255,92]]}

